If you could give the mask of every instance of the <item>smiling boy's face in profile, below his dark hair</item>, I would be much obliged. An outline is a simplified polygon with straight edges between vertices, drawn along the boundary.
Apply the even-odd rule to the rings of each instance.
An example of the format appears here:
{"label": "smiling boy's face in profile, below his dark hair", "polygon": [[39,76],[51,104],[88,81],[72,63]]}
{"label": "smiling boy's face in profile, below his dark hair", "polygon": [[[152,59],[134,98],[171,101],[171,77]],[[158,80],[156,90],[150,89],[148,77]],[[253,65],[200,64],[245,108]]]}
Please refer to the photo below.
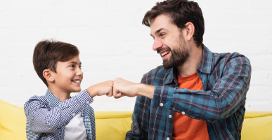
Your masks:
{"label": "smiling boy's face in profile, below his dark hair", "polygon": [[80,92],[82,89],[83,72],[79,56],[72,57],[67,62],[57,62],[54,83],[61,92]]}

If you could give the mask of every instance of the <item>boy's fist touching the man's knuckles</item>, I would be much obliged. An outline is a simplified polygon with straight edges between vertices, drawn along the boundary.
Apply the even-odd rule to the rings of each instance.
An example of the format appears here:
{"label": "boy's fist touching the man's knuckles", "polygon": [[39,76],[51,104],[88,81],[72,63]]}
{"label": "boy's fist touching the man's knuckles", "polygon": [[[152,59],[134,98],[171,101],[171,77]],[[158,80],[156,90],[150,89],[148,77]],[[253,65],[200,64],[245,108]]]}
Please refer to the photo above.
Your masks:
{"label": "boy's fist touching the man's knuckles", "polygon": [[98,83],[96,85],[91,85],[91,87],[87,88],[87,91],[91,95],[91,97],[95,96],[102,96],[107,94],[108,97],[112,96],[112,88],[113,88],[113,81],[107,80],[102,83]]}

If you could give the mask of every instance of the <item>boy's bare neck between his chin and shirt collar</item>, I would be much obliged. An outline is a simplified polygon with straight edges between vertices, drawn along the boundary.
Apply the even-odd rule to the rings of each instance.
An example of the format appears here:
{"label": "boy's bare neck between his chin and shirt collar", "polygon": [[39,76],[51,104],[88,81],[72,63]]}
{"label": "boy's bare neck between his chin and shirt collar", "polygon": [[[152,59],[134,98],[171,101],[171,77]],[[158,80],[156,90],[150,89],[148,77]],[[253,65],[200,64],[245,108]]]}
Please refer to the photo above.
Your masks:
{"label": "boy's bare neck between his chin and shirt collar", "polygon": [[68,92],[65,92],[61,89],[59,89],[58,87],[53,87],[53,86],[48,86],[48,90],[50,90],[50,92],[55,95],[55,97],[57,97],[60,102],[64,102],[66,99],[70,99],[70,94]]}

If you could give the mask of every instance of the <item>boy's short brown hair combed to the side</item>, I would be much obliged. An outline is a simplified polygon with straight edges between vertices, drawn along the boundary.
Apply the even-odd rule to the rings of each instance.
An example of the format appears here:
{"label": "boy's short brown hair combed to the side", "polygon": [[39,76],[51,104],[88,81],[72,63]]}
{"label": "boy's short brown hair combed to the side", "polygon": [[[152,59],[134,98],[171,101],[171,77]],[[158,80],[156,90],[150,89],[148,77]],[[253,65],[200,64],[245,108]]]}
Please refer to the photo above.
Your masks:
{"label": "boy's short brown hair combed to the side", "polygon": [[44,69],[50,69],[57,73],[57,62],[67,62],[72,57],[78,56],[79,50],[75,45],[64,43],[60,41],[44,40],[40,41],[34,48],[33,65],[39,78],[46,84],[48,83],[44,78]]}

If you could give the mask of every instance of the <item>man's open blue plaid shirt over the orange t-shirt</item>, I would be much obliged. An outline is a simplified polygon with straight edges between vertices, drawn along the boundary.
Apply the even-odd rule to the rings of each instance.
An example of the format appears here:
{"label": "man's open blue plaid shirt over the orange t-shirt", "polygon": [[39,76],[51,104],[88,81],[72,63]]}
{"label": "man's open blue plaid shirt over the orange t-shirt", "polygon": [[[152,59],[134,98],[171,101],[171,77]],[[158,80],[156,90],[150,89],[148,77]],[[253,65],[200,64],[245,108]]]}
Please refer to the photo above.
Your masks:
{"label": "man's open blue plaid shirt over the orange t-shirt", "polygon": [[[145,73],[141,83],[155,85],[153,99],[138,96],[126,139],[171,140],[174,112],[207,122],[209,138],[241,139],[251,66],[244,55],[203,48],[197,68],[203,90],[179,88],[177,69],[163,66]],[[181,126],[182,127],[182,126]]]}

